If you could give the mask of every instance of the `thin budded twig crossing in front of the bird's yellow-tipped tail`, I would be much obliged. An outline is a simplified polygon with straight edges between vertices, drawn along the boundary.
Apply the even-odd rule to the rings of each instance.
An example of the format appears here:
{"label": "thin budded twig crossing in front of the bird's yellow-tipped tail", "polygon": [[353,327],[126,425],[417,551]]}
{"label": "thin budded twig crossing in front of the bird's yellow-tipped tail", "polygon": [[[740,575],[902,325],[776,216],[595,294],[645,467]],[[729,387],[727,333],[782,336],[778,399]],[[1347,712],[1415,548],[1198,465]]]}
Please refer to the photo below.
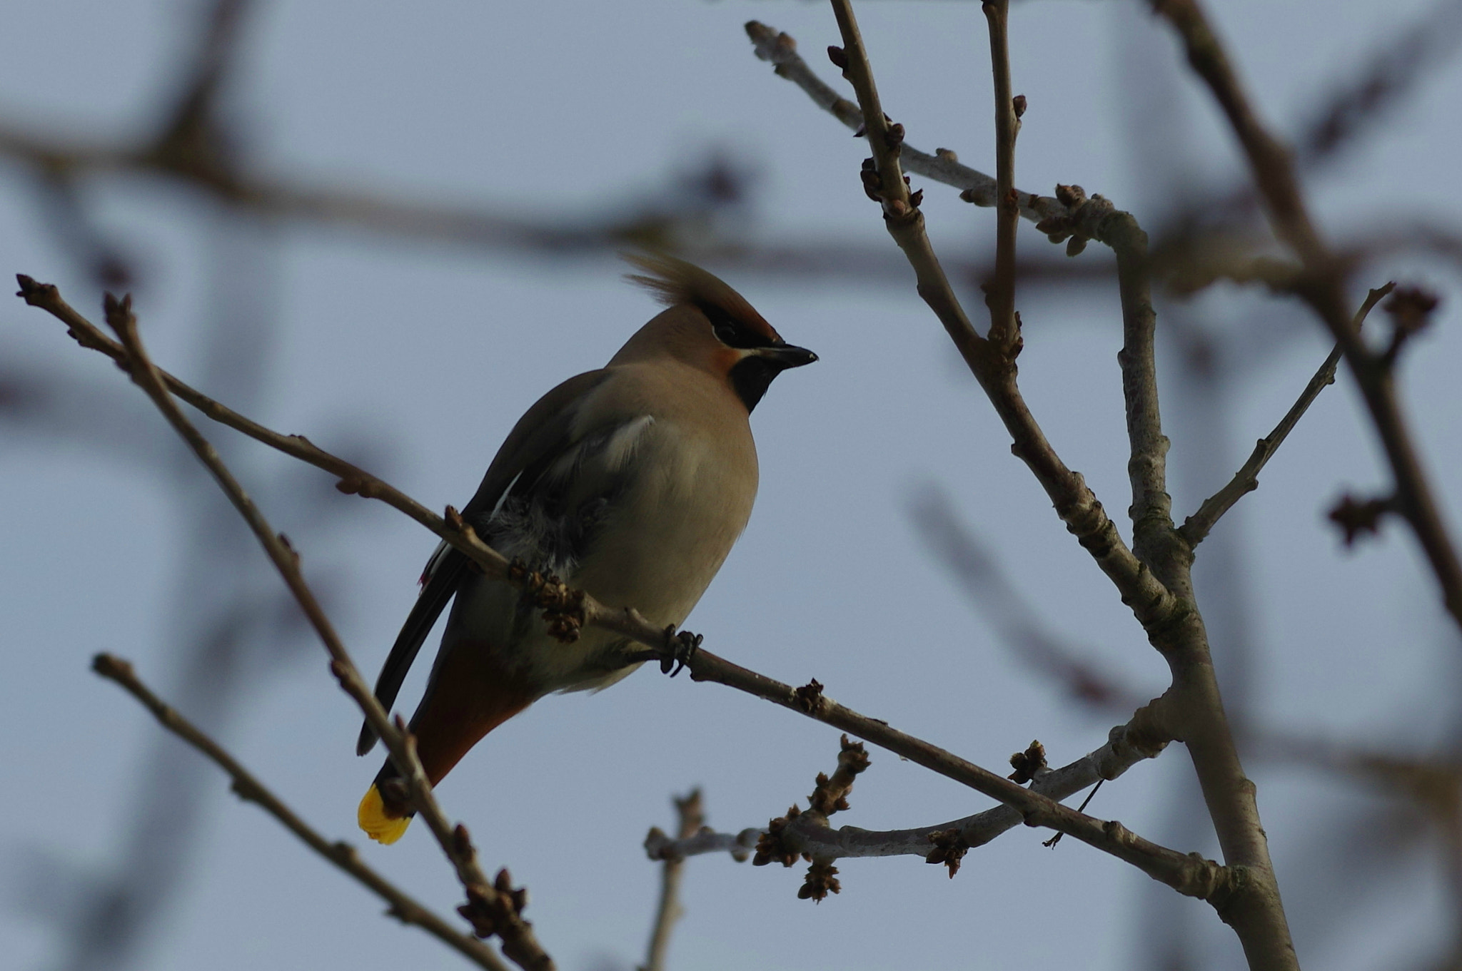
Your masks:
{"label": "thin budded twig crossing in front of the bird's yellow-tipped tail", "polygon": [[[34,289],[34,280],[31,283],[32,288],[26,288],[25,280],[22,280],[22,291]],[[173,396],[168,394],[162,374],[152,364],[152,359],[142,346],[137,334],[137,321],[132,314],[132,298],[126,296],[118,301],[108,293],[105,311],[108,326],[111,326],[121,342],[124,355],[121,364],[132,375],[132,380],[146,391],[168,423],[173,425],[193,450],[193,454],[197,456],[199,461],[212,473],[215,482],[218,482],[234,508],[238,510],[238,514],[249,524],[259,543],[265,548],[270,562],[279,571],[285,586],[294,594],[295,600],[298,600],[300,607],[310,621],[310,626],[314,628],[326,651],[330,654],[330,672],[345,692],[355,699],[366,718],[385,740],[392,762],[408,780],[412,807],[421,813],[433,835],[437,837],[442,851],[452,863],[458,879],[468,894],[468,905],[472,907],[480,901],[499,901],[501,891],[488,883],[487,876],[478,866],[477,851],[472,848],[466,829],[461,825],[453,828],[437,805],[431,793],[431,784],[427,781],[427,774],[420,759],[417,759],[414,739],[404,729],[392,724],[385,708],[380,707],[376,695],[351,661],[345,644],[336,635],[330,619],[325,615],[325,609],[320,607],[319,600],[316,600],[314,593],[304,580],[304,574],[300,571],[298,553],[288,545],[288,540],[282,534],[273,531],[253,499],[249,498],[249,494],[224,464],[224,460],[193,423],[187,421],[183,412],[178,410]],[[534,971],[550,971],[553,968],[553,961],[538,946],[526,921],[518,917],[516,923],[499,920],[499,924],[501,924],[500,933],[504,953],[509,958]]]}

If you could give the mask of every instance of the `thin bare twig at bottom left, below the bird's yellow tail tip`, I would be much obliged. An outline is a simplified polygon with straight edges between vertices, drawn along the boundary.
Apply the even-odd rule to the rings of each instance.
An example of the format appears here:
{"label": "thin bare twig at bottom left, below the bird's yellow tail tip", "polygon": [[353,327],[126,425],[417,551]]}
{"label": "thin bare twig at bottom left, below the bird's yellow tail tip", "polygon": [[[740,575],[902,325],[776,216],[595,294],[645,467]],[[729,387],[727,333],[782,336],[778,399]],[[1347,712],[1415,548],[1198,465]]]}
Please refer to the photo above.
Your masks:
{"label": "thin bare twig at bottom left, below the bird's yellow tail tip", "polygon": [[171,705],[158,698],[132,669],[132,663],[111,654],[98,654],[92,659],[92,670],[102,678],[121,685],[133,698],[140,701],[148,711],[156,717],[162,727],[178,736],[194,749],[216,762],[232,780],[232,788],[240,799],[256,803],[284,826],[300,837],[306,845],[322,857],[345,870],[357,880],[370,888],[377,897],[390,905],[387,911],[402,923],[421,927],[450,948],[455,948],[468,961],[488,971],[507,971],[493,951],[477,937],[458,932],[452,924],[428,910],[424,904],[408,895],[395,883],[361,861],[355,847],[348,843],[330,843],[306,824],[289,809],[284,800],[275,796],[249,769],[238,764],[221,745],[213,742],[197,726],[178,714]]}

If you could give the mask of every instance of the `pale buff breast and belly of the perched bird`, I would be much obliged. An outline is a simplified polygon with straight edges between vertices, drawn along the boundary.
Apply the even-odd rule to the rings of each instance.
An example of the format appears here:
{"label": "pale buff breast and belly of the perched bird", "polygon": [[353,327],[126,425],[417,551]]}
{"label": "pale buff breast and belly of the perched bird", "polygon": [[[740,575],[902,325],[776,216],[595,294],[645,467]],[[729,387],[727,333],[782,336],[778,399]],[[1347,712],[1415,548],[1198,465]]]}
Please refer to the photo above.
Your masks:
{"label": "pale buff breast and belly of the perched bird", "polygon": [[[613,416],[613,421],[605,418]],[[557,571],[610,607],[680,625],[751,515],[757,461],[744,406],[690,369],[621,368],[586,399],[576,444],[494,513],[494,545]],[[459,597],[455,619],[532,692],[602,688],[629,673],[599,628],[553,640],[499,581]]]}

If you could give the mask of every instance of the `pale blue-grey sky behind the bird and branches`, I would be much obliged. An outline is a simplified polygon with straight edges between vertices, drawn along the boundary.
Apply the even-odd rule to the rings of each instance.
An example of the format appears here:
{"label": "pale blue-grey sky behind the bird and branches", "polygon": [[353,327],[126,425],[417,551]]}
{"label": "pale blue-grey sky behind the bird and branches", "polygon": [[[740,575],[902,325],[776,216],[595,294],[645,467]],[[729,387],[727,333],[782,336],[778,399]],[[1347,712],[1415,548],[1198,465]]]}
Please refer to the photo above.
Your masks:
{"label": "pale blue-grey sky behind the bird and branches", "polygon": [[[1266,114],[1292,130],[1335,79],[1427,4],[1212,6]],[[152,120],[149,107],[175,83],[170,66],[190,37],[193,7],[9,0],[0,9],[12,37],[0,60],[0,118],[99,139]],[[920,542],[908,515],[915,491],[927,482],[949,491],[1044,621],[1089,645],[1133,691],[1159,692],[1164,664],[1010,457],[911,277],[899,283],[901,256],[858,183],[863,143],[751,55],[741,31],[750,18],[792,34],[835,80],[820,51],[836,42],[836,29],[820,4],[276,1],[250,20],[228,104],[250,158],[281,177],[526,219],[629,210],[671,193],[678,172],[722,150],[754,172],[744,216],[753,238],[836,239],[886,254],[890,270],[874,282],[712,267],[822,362],[781,378],[759,406],[757,508],[689,626],[738,663],[794,683],[817,678],[839,701],[987,767],[1001,767],[1032,737],[1067,762],[1124,718],[1076,707],[994,640]],[[988,169],[988,48],[978,6],[866,3],[860,19],[885,107],[908,140],[956,149]],[[1124,3],[1016,4],[1015,89],[1031,105],[1022,188],[1079,183],[1155,228],[1171,202],[1168,185],[1197,191],[1234,177],[1230,142],[1156,26]],[[1326,228],[1355,234],[1411,216],[1462,223],[1452,191],[1459,102],[1462,69],[1439,69],[1317,181],[1313,199]],[[937,185],[925,199],[946,257],[990,251],[990,210]],[[196,193],[130,175],[88,183],[85,202],[136,257],[137,312],[159,364],[231,403],[244,400],[244,410],[282,431],[361,456],[439,508],[471,495],[538,394],[599,366],[655,310],[605,253],[550,261],[291,220],[240,229]],[[48,231],[48,218],[26,172],[0,161],[0,270],[56,282],[89,311],[99,302],[96,285]],[[1029,226],[1020,245],[1050,248]],[[1092,245],[1080,258],[1107,256]],[[1440,263],[1390,263],[1367,282],[1396,267],[1447,296],[1436,329],[1406,359],[1405,388],[1455,514],[1456,267],[1449,276]],[[250,293],[230,291],[240,282]],[[968,301],[978,317],[978,299]],[[1019,305],[1025,394],[1126,531],[1114,286],[1025,291]],[[1227,418],[1213,428],[1202,388],[1181,369],[1180,342],[1159,324],[1174,507],[1187,514],[1284,413],[1326,346],[1297,304],[1262,293],[1219,288],[1186,311],[1159,311],[1164,324],[1208,327],[1240,362],[1219,393]],[[237,329],[230,333],[263,356],[257,383],[227,362],[209,364],[200,334],[216,326]],[[37,412],[0,412],[0,717],[10,739],[0,768],[12,819],[0,837],[0,965],[31,970],[70,953],[75,924],[61,918],[76,899],[70,880],[118,864],[143,800],[137,767],[174,745],[86,670],[95,651],[130,657],[158,691],[177,696],[177,659],[199,637],[197,621],[175,619],[199,610],[180,612],[180,602],[237,603],[243,590],[243,609],[262,618],[249,664],[269,673],[237,707],[186,714],[218,724],[228,746],[311,824],[357,844],[364,840],[354,807],[377,761],[352,755],[358,714],[327,676],[323,651],[263,616],[275,581],[262,555],[227,515],[197,511],[192,496],[206,495],[203,473],[164,437],[140,393],[19,301],[0,308],[0,374],[26,375],[42,394]],[[102,431],[80,435],[79,426]],[[357,661],[373,675],[436,539],[227,429],[205,432],[237,460],[275,526],[297,539]],[[1352,555],[1323,521],[1342,489],[1385,482],[1342,380],[1203,548],[1200,596],[1212,597],[1205,606],[1216,653],[1222,663],[1247,640],[1244,698],[1257,724],[1368,746],[1430,745],[1455,727],[1458,638],[1439,619],[1411,539],[1392,527]],[[208,523],[218,531],[199,526]],[[289,660],[262,664],[260,645],[269,644]],[[423,675],[408,682],[408,708]],[[205,686],[208,679],[199,676]],[[480,745],[440,796],[471,826],[484,864],[506,864],[529,886],[528,917],[561,968],[632,967],[658,886],[640,841],[651,825],[671,824],[670,797],[702,786],[713,825],[765,825],[806,802],[816,772],[833,767],[836,734],[746,695],[643,670],[601,695],[538,704]],[[374,898],[228,796],[221,774],[196,771],[206,775],[197,851],[137,967],[459,965],[430,937],[380,917]],[[1348,857],[1339,828],[1327,826],[1383,803],[1310,769],[1256,759],[1251,772],[1307,965],[1373,968],[1382,955],[1423,955],[1444,939],[1434,866],[1396,872],[1395,886],[1382,885],[1357,910],[1338,902],[1344,878],[1332,880],[1325,867],[1344,875]],[[1181,819],[1197,812],[1181,794],[1189,775],[1175,746],[1105,787],[1092,812],[1180,850],[1212,853],[1206,828]],[[925,825],[988,805],[879,751],[851,802],[836,822],[864,828]],[[167,819],[149,822],[167,832]],[[1145,924],[1140,914],[1159,914],[1170,926],[1187,921],[1183,933],[1205,942],[1206,967],[1235,967],[1237,945],[1206,905],[1158,902],[1167,891],[1136,870],[1075,841],[1044,850],[1045,835],[1010,832],[972,851],[955,880],[914,859],[848,860],[839,864],[842,894],[816,907],[795,899],[800,869],[696,859],[673,965],[1132,968],[1148,953],[1133,934],[1154,933],[1154,918]],[[421,826],[395,847],[363,851],[450,913],[458,888]],[[1025,930],[1032,914],[1035,933]]]}

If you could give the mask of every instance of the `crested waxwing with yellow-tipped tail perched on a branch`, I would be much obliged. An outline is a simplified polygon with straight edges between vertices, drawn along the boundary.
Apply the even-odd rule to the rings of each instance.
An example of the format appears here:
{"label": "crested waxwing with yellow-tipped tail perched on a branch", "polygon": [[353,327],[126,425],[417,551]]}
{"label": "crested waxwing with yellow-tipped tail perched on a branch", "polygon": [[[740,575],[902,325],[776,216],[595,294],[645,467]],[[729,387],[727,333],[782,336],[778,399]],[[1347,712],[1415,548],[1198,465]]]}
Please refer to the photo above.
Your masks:
{"label": "crested waxwing with yellow-tipped tail perched on a branch", "polygon": [[[627,277],[665,310],[598,371],[569,378],[518,421],[462,510],[503,556],[553,574],[610,607],[678,628],[751,515],[757,489],[750,415],[772,380],[817,355],[782,340],[744,296],[665,254],[627,254]],[[553,692],[599,691],[639,664],[621,635],[554,638],[519,587],[488,578],[444,542],[386,657],[387,711],[452,602],[409,730],[436,786],[488,732]],[[367,721],[357,753],[376,743]],[[395,843],[411,822],[387,759],[358,822]]]}

